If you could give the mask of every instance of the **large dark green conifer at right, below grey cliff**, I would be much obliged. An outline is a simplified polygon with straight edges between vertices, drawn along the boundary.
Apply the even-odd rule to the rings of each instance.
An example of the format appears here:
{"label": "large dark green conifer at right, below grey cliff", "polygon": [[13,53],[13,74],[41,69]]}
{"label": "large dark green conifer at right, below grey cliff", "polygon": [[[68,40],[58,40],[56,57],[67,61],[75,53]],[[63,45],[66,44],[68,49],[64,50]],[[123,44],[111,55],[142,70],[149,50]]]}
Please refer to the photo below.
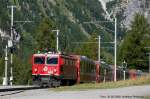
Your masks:
{"label": "large dark green conifer at right, below grey cliff", "polygon": [[147,69],[147,46],[150,46],[150,25],[142,14],[136,14],[131,30],[127,31],[121,44],[119,58],[121,61],[127,61],[129,68]]}

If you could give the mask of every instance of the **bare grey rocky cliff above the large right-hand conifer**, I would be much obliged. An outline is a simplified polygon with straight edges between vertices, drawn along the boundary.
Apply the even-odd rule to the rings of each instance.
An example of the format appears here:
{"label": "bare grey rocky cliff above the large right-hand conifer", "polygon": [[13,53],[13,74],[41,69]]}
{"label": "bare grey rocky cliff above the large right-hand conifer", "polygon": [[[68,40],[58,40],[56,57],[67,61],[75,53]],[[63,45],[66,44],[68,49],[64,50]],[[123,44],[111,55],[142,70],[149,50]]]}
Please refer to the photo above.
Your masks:
{"label": "bare grey rocky cliff above the large right-hand conifer", "polygon": [[122,0],[121,7],[124,9],[122,22],[127,29],[130,29],[135,13],[145,15],[150,22],[150,0]]}

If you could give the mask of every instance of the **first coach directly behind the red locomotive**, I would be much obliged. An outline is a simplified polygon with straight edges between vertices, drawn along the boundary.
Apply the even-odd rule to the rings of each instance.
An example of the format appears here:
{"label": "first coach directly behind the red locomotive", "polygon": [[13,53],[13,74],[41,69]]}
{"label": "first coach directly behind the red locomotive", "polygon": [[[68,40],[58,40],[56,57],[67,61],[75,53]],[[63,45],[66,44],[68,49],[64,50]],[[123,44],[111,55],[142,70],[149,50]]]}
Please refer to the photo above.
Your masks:
{"label": "first coach directly behind the red locomotive", "polygon": [[78,83],[98,82],[99,64],[86,56],[76,56],[78,69]]}

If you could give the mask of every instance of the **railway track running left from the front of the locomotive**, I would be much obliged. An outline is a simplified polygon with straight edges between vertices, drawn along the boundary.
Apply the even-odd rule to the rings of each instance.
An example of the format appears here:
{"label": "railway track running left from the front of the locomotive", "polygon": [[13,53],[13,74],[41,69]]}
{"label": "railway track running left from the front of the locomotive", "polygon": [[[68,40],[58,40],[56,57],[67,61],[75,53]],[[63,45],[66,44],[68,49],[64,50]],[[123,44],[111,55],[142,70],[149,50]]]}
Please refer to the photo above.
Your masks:
{"label": "railway track running left from the front of the locomotive", "polygon": [[[46,88],[46,87],[45,87]],[[0,86],[0,92],[44,89],[39,86]]]}

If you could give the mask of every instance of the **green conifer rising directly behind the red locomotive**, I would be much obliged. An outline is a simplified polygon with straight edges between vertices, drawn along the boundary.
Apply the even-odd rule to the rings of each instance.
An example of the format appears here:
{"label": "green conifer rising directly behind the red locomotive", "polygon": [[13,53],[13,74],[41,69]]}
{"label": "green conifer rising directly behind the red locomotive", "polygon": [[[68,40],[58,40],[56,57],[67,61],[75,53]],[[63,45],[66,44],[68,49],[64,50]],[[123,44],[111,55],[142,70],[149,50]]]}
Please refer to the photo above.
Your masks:
{"label": "green conifer rising directly behind the red locomotive", "polygon": [[48,18],[44,18],[36,30],[36,41],[38,49],[55,49],[56,33],[52,30],[55,29],[55,24]]}

